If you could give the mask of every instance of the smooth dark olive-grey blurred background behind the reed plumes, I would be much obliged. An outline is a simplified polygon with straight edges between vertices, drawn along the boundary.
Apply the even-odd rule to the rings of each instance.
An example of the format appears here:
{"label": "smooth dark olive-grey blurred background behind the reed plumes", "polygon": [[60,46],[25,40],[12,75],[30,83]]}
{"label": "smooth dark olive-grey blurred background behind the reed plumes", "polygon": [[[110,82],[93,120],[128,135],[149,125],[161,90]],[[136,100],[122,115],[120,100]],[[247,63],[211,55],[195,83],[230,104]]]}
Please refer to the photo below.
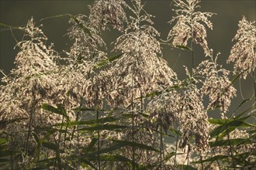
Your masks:
{"label": "smooth dark olive-grey blurred background behind the reed plumes", "polygon": [[[54,19],[40,19],[61,14],[85,14],[88,15],[88,5],[91,1],[23,1],[23,0],[1,0],[1,19],[0,22],[9,26],[26,26],[28,19],[33,16],[36,26],[43,25],[43,32],[48,37],[48,42],[54,42],[55,49],[61,53],[63,50],[68,50],[72,42],[67,36],[68,17],[60,17]],[[127,1],[128,2],[128,1]],[[168,21],[175,13],[171,10],[174,5],[171,0],[146,0],[145,9],[151,15],[154,15],[154,27],[161,32],[159,39],[167,39],[168,32],[171,29]],[[171,5],[172,4],[172,5]],[[209,48],[214,50],[214,53],[220,52],[219,63],[227,70],[233,70],[233,63],[227,64],[226,60],[230,55],[230,49],[234,45],[232,39],[237,32],[237,24],[242,19],[243,15],[249,21],[255,21],[255,0],[202,0],[201,12],[214,12],[216,15],[210,19],[213,22],[213,31],[207,29],[207,40]],[[13,30],[13,34],[17,40],[22,39],[22,32]],[[117,31],[103,32],[103,37],[106,43],[109,44],[111,51],[112,46],[110,42],[115,41],[119,36]],[[16,46],[16,41],[9,29],[1,29],[0,32],[0,69],[8,74],[15,66],[14,59],[18,49],[13,49]],[[185,70],[183,65],[192,68],[191,52],[181,49],[171,49],[170,46],[162,46],[163,57],[168,60],[169,66],[176,73],[180,79],[185,78]],[[202,48],[195,46],[195,66],[198,65],[202,59],[205,59]],[[2,77],[2,73],[0,73]],[[230,76],[230,80],[234,75]],[[233,101],[230,111],[234,111],[240,102],[244,99],[250,98],[254,93],[254,83],[251,76],[247,76],[247,80],[237,80],[235,82],[237,89],[237,98]],[[241,89],[241,90],[240,90]],[[242,95],[241,95],[242,94]],[[243,109],[243,108],[241,108]],[[210,113],[211,114],[211,113]]]}

